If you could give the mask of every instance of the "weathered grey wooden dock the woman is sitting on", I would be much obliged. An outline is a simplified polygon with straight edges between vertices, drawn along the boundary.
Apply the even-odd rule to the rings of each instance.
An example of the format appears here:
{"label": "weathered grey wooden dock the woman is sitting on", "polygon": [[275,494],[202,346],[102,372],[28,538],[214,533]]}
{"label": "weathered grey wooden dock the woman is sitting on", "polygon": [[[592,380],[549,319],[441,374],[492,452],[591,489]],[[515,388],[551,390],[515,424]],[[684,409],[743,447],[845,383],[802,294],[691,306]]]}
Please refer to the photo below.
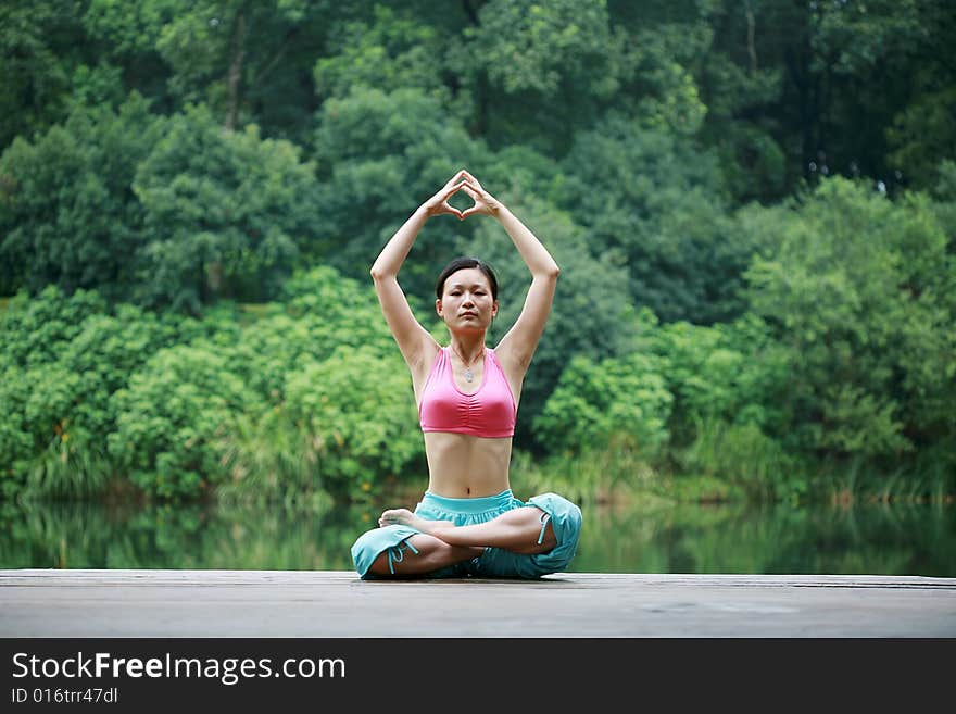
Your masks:
{"label": "weathered grey wooden dock the woman is sitting on", "polygon": [[952,638],[956,578],[7,569],[0,637]]}

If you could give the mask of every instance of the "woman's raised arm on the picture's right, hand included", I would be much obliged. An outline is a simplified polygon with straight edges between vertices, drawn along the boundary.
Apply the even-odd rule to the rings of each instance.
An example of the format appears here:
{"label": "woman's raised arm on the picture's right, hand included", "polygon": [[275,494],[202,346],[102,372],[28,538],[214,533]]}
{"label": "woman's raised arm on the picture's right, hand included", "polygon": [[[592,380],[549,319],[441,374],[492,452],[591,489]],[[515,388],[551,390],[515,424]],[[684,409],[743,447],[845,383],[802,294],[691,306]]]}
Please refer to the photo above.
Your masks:
{"label": "woman's raised arm on the picture's right, hand included", "polygon": [[524,376],[544,331],[548,315],[551,313],[561,270],[548,249],[517,216],[486,191],[471,174],[465,171],[463,175],[465,178],[463,190],[474,199],[475,205],[464,211],[462,218],[477,213],[496,218],[518,249],[528,270],[531,271],[531,287],[528,288],[521,314],[495,348],[499,359],[510,362]]}

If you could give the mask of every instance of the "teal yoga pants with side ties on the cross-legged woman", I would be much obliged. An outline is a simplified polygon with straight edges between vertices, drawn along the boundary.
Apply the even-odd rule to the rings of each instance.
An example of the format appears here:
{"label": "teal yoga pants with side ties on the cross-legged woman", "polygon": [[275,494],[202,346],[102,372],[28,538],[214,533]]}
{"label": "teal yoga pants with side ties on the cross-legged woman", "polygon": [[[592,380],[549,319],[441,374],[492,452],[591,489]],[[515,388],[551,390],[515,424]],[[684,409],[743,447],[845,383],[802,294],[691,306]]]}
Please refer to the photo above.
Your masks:
{"label": "teal yoga pants with side ties on the cross-legged woman", "polygon": [[[506,511],[526,505],[534,505],[542,511],[539,543],[544,538],[544,528],[551,522],[557,543],[550,551],[527,555],[500,548],[486,548],[478,558],[449,565],[422,577],[539,578],[566,569],[578,548],[581,510],[556,493],[533,496],[524,503],[514,497],[511,489],[477,499],[450,499],[426,491],[415,508],[415,514],[429,521],[451,521],[456,526],[469,526],[486,523]],[[377,577],[369,568],[382,552],[388,552],[389,569],[394,573],[394,563],[415,558],[417,551],[407,540],[418,533],[422,531],[411,526],[390,525],[362,534],[352,546],[352,561],[358,575],[363,579]]]}

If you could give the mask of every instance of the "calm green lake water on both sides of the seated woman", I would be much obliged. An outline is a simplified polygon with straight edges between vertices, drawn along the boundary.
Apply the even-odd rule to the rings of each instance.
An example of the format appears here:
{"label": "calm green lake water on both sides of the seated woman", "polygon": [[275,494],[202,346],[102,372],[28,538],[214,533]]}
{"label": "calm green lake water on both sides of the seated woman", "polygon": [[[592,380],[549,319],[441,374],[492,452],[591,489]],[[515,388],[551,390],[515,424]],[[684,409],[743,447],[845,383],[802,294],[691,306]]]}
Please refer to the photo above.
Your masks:
{"label": "calm green lake water on both sides of the seated woman", "polygon": [[[0,503],[0,568],[351,569],[378,506]],[[956,506],[589,506],[570,572],[956,577]]]}

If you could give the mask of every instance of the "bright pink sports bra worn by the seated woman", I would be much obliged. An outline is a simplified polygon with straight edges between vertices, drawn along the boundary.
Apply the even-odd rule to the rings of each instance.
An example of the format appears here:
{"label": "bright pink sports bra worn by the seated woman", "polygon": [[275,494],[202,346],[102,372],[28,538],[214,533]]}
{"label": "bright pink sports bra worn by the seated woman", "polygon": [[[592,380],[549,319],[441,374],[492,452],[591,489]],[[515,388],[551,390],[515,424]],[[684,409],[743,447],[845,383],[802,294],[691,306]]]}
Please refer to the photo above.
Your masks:
{"label": "bright pink sports bra worn by the seated woman", "polygon": [[455,384],[446,347],[438,351],[418,404],[423,431],[502,438],[515,434],[517,405],[494,351],[485,348],[481,386],[466,394]]}

